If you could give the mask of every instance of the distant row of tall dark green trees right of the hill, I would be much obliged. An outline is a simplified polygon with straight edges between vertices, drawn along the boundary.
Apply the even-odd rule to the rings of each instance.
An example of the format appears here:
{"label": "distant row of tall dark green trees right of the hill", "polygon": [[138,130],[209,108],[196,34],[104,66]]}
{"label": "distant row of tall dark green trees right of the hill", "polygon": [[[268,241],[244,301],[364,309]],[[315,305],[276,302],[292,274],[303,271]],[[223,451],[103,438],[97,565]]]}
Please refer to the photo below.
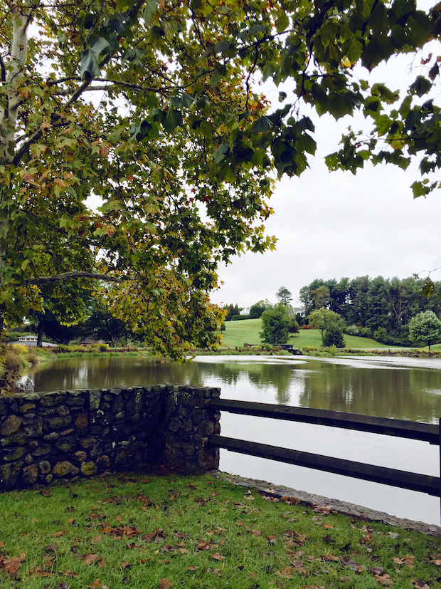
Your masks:
{"label": "distant row of tall dark green trees right of the hill", "polygon": [[[336,281],[315,279],[300,289],[304,316],[320,308],[339,313],[346,323],[346,333],[374,338],[390,345],[411,345],[409,322],[423,311],[440,316],[441,300],[421,294],[425,281],[415,278],[369,278]],[[441,283],[434,283],[435,294]]]}

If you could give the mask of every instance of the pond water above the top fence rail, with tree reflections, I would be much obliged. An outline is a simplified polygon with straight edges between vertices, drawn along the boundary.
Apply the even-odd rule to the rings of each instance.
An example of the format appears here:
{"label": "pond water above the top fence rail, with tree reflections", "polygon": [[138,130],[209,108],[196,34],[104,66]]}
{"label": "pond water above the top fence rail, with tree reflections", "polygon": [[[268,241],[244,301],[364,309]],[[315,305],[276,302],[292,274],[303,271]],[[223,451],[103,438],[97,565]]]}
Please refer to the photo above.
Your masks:
{"label": "pond water above the top fence rail, with tree reflections", "polygon": [[26,377],[37,391],[169,382],[218,386],[225,398],[233,395],[427,423],[437,423],[441,416],[441,363],[437,360],[431,364],[413,358],[201,356],[179,365],[145,357],[97,357],[36,365]]}

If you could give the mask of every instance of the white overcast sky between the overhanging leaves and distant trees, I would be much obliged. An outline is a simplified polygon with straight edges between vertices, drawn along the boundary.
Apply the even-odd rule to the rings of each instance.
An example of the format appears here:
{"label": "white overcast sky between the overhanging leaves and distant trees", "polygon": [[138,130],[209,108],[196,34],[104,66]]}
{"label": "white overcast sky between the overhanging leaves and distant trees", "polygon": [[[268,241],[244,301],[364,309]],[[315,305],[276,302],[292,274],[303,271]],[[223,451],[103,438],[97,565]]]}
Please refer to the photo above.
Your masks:
{"label": "white overcast sky between the overhanging leaves and distant trees", "polygon": [[[439,42],[430,51],[441,55]],[[429,50],[425,50],[427,56]],[[406,88],[420,73],[420,57],[409,73],[410,56],[400,56],[375,74],[392,90]],[[368,72],[361,72],[368,79]],[[371,78],[372,80],[373,78]],[[277,96],[277,92],[274,92]],[[406,172],[395,166],[368,165],[358,171],[328,172],[324,155],[336,151],[349,118],[314,120],[317,155],[300,178],[277,182],[267,233],[277,236],[277,250],[236,256],[219,270],[223,286],[215,303],[248,307],[260,299],[276,302],[286,286],[298,301],[299,289],[314,278],[398,276],[421,271],[427,276],[441,266],[441,191],[413,199],[410,184],[419,179],[416,165]],[[441,269],[431,274],[441,280]]]}

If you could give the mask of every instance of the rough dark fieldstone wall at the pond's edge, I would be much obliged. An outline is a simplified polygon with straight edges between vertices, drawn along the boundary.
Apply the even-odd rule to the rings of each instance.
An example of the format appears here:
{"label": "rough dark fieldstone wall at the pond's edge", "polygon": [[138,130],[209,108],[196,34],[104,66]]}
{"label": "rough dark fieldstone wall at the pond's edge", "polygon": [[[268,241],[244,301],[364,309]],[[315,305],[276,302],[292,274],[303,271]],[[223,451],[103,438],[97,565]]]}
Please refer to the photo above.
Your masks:
{"label": "rough dark fieldstone wall at the pond's edge", "polygon": [[0,491],[105,471],[196,474],[218,468],[208,437],[220,389],[186,386],[31,392],[0,397]]}

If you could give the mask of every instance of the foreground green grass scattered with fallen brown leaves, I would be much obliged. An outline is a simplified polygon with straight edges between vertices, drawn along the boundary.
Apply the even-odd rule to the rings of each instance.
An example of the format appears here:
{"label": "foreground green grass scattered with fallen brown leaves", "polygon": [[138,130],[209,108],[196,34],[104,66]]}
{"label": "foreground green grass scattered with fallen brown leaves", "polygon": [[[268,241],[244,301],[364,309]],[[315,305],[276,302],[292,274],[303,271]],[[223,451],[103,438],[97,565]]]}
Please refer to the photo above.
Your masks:
{"label": "foreground green grass scattered with fallen brown leaves", "polygon": [[440,580],[440,538],[327,513],[208,476],[14,491],[0,496],[0,585],[411,589]]}

